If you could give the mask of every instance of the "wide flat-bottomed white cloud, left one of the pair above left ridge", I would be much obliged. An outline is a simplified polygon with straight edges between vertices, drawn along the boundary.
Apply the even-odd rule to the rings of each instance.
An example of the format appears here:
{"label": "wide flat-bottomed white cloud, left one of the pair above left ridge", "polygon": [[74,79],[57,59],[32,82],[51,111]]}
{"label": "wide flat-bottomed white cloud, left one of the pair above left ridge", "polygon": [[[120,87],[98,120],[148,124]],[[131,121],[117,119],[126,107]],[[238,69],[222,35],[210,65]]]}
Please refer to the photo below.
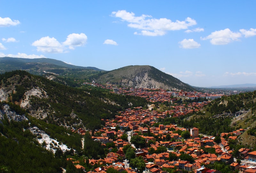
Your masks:
{"label": "wide flat-bottomed white cloud, left one of the pair above left ridge", "polygon": [[36,40],[32,43],[32,46],[36,46],[36,50],[39,52],[55,52],[55,53],[62,53],[64,47],[57,41],[54,37],[50,38],[42,37],[39,40]]}

